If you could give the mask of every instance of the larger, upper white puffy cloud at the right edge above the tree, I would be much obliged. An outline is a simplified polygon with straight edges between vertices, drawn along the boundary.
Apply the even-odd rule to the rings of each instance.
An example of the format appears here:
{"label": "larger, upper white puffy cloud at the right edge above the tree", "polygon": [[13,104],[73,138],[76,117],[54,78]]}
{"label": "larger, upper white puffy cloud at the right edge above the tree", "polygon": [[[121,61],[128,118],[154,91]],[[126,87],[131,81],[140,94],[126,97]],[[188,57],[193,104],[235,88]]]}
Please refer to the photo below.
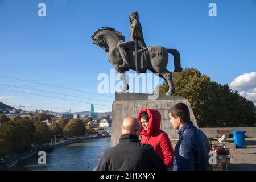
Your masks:
{"label": "larger, upper white puffy cloud at the right edge above the tree", "polygon": [[243,75],[235,78],[230,84],[230,88],[233,90],[256,90],[256,72],[244,73]]}

